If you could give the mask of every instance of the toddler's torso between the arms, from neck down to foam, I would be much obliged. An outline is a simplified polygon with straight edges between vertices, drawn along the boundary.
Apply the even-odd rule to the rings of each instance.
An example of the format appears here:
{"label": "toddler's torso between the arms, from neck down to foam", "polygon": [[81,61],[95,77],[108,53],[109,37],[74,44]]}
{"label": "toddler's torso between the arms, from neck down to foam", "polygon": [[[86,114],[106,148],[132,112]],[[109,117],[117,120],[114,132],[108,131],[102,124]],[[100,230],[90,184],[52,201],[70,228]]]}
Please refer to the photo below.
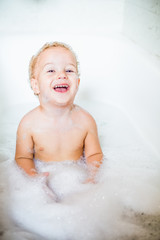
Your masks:
{"label": "toddler's torso between the arms, from neck down to foam", "polygon": [[38,115],[32,130],[34,158],[46,162],[80,159],[87,134],[83,111],[72,110],[69,118],[58,122]]}

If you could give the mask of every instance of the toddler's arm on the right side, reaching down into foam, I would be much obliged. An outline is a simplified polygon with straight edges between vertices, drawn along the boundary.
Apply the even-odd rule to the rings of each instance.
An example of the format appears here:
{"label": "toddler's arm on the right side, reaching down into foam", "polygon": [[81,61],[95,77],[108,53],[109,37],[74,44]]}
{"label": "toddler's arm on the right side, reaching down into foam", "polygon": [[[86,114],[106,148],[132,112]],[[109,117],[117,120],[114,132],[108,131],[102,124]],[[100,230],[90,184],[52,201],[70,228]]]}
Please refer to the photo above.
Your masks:
{"label": "toddler's arm on the right side, reaching down into foam", "polygon": [[94,182],[96,173],[102,163],[103,153],[98,139],[97,126],[90,118],[88,133],[85,138],[85,157],[89,169],[88,181]]}

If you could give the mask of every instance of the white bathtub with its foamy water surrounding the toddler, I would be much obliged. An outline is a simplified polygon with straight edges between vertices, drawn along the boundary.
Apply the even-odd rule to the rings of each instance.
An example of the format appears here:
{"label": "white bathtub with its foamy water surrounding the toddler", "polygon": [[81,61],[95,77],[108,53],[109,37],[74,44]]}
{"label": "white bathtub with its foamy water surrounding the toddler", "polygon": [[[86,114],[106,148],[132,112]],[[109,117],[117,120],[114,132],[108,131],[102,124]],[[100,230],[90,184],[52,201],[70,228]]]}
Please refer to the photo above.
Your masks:
{"label": "white bathtub with its foamy water surrounding the toddler", "polygon": [[[53,39],[53,36],[49,37],[49,40]],[[9,171],[8,176],[12,175],[18,123],[27,111],[37,105],[27,83],[27,68],[23,65],[27,65],[33,48],[37,49],[37,45],[41,45],[41,42],[47,39],[47,37],[42,37],[41,42],[37,44],[38,38],[24,36],[3,38],[2,56],[5,56],[3,54],[7,51],[10,57],[7,57],[6,62],[3,61],[1,71],[5,93],[1,95],[3,106],[0,125],[1,191],[3,191],[0,201],[5,210],[1,209],[2,239],[17,240],[18,237],[20,239],[22,237],[23,239],[28,239],[27,237],[53,239],[57,237],[60,240],[71,237],[71,239],[79,240],[85,236],[83,239],[95,240],[98,239],[97,237],[100,237],[99,239],[119,237],[120,239],[124,235],[129,239],[134,234],[139,239],[145,235],[149,236],[152,229],[148,231],[137,228],[129,210],[132,209],[137,214],[157,215],[160,213],[160,134],[158,134],[160,133],[158,90],[160,72],[156,64],[150,60],[151,56],[149,57],[143,50],[122,36],[112,38],[64,37],[64,41],[70,43],[77,52],[81,66],[81,86],[76,102],[95,117],[102,150],[106,156],[102,169],[105,184],[97,185],[96,189],[99,196],[98,206],[101,206],[100,198],[105,199],[106,202],[103,201],[102,208],[95,205],[95,208],[97,206],[95,215],[89,213],[86,208],[86,214],[91,214],[88,228],[85,226],[86,223],[80,220],[81,225],[76,225],[74,218],[72,220],[75,220],[75,229],[67,228],[67,216],[69,215],[64,216],[62,212],[58,212],[57,207],[55,211],[64,217],[60,223],[64,227],[65,234],[58,231],[55,235],[51,225],[51,222],[55,221],[54,214],[50,215],[51,203],[43,204],[42,201],[38,203],[40,205],[36,205],[33,201],[33,206],[35,208],[37,206],[35,212],[34,209],[30,210],[25,201],[21,204],[19,199],[23,197],[23,193],[26,194],[27,190],[24,191],[21,183],[19,185],[18,178],[15,183],[13,181],[12,187],[21,189],[19,195],[11,194],[12,187],[11,192],[8,190],[6,180],[10,177],[7,178],[5,174]],[[62,39],[62,36],[56,38],[61,41]],[[11,47],[13,44],[14,49]],[[29,46],[27,49],[24,48],[26,44]],[[10,71],[7,71],[8,65],[11,66]],[[35,103],[32,103],[33,101]],[[14,176],[12,177],[14,179]],[[75,204],[76,197],[73,199]],[[65,206],[72,206],[73,199],[69,198],[67,200],[69,202],[62,204],[62,209]],[[85,198],[81,199],[85,203]],[[82,207],[83,204],[81,204],[79,202],[77,206]],[[106,214],[103,213],[103,208]],[[74,208],[67,207],[66,211],[74,212]],[[46,213],[49,219],[44,222]],[[122,219],[124,213],[129,217],[129,221]],[[39,222],[35,224],[37,216]],[[83,214],[78,216],[81,219]],[[98,222],[93,221],[94,216],[101,221],[100,225],[98,220]],[[17,224],[16,227],[13,222]]]}

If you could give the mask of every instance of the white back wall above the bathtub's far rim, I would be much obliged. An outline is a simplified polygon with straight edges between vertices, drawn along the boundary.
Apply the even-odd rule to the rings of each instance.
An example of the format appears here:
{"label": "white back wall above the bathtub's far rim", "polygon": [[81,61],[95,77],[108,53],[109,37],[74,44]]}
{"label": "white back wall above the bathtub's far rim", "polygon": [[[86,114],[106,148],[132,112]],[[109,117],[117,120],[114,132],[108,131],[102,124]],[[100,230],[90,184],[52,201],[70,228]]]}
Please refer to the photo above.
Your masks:
{"label": "white back wall above the bathtub's far rim", "polygon": [[1,0],[0,32],[106,35],[122,29],[124,0]]}

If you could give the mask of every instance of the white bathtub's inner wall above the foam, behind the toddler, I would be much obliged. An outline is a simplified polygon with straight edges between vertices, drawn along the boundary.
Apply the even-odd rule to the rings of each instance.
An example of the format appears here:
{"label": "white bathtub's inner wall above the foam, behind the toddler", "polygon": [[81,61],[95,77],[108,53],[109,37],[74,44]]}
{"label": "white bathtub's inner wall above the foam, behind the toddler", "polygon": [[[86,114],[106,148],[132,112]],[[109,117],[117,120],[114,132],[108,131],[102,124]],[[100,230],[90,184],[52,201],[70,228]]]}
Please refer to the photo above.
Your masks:
{"label": "white bathtub's inner wall above the foam, behind the toddler", "polygon": [[78,102],[98,100],[117,106],[160,156],[160,64],[121,35],[2,36],[0,108],[36,101],[27,83],[28,63],[44,42],[52,40],[69,43],[78,55],[81,71]]}

